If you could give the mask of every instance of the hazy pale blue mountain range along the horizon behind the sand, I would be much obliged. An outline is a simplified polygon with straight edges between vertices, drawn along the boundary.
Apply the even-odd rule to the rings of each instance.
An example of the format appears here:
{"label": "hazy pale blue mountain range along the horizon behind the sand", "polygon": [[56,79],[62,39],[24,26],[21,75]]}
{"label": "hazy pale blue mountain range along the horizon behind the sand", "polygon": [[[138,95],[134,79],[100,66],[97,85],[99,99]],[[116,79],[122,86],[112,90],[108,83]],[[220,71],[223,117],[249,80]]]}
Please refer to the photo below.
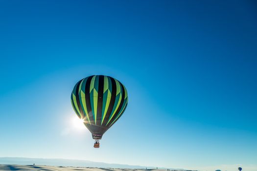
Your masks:
{"label": "hazy pale blue mountain range along the horizon behind the sand", "polygon": [[[72,167],[92,167],[92,168],[128,168],[128,169],[156,169],[149,166],[133,166],[123,164],[110,164],[102,162],[93,162],[88,160],[71,159],[45,159],[45,158],[23,158],[23,157],[0,157],[2,165],[48,165],[48,166],[72,166]],[[158,168],[170,170],[182,170],[172,168]]]}

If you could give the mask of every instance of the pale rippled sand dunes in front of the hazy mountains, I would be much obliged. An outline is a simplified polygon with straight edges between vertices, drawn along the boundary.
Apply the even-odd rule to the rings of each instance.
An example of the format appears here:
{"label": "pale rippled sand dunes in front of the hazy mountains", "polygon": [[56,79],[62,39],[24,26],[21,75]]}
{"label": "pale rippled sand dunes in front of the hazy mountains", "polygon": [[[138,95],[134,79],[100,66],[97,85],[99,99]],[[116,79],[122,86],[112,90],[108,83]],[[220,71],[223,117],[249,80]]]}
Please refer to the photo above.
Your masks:
{"label": "pale rippled sand dunes in front of the hazy mountains", "polygon": [[112,168],[82,168],[62,166],[33,166],[33,165],[0,165],[0,171],[167,171],[162,169],[112,169]]}

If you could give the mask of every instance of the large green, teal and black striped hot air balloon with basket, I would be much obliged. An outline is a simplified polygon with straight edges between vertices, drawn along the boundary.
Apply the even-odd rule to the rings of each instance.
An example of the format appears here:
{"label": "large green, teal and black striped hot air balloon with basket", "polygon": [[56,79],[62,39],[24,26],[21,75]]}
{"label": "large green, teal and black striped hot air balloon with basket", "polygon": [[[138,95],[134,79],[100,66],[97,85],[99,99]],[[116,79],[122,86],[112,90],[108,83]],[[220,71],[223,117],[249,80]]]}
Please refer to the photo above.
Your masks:
{"label": "large green, teal and black striped hot air balloon with basket", "polygon": [[92,75],[80,80],[71,93],[71,104],[77,116],[92,133],[94,148],[121,117],[128,104],[124,85],[115,78]]}

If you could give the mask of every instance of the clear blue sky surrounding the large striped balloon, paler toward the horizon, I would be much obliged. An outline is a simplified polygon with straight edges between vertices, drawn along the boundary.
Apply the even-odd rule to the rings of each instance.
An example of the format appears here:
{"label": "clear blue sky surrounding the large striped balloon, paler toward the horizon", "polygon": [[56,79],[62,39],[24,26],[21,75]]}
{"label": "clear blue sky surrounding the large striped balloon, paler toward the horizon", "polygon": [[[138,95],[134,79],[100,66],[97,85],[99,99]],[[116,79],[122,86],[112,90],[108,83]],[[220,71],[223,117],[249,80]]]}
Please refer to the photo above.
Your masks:
{"label": "clear blue sky surrounding the large striped balloon, paler toward the horizon", "polygon": [[[257,168],[254,0],[0,0],[0,59],[1,157]],[[129,95],[100,149],[71,123],[93,74]]]}

